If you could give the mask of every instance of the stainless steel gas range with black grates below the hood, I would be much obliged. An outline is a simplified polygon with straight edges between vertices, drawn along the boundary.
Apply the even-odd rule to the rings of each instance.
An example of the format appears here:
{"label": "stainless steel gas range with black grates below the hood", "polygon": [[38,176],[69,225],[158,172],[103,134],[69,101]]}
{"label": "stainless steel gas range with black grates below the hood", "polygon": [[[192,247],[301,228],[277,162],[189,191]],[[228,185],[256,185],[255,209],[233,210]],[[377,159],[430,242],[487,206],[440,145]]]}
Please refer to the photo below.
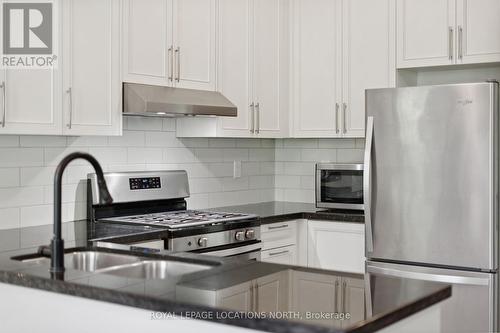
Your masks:
{"label": "stainless steel gas range with black grates below the hood", "polygon": [[188,210],[186,171],[105,173],[111,206],[99,205],[97,177],[88,175],[88,216],[93,223],[116,223],[166,231],[163,248],[260,260],[260,220],[256,215]]}

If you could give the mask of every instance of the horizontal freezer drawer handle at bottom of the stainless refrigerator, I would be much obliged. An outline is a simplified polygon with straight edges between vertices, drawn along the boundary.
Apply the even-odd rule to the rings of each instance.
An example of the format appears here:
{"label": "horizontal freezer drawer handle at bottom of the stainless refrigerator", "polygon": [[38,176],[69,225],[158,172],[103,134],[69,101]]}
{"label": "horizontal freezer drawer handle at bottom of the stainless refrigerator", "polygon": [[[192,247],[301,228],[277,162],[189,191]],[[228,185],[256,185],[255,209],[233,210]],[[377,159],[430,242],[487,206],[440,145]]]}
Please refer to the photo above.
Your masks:
{"label": "horizontal freezer drawer handle at bottom of the stainless refrigerator", "polygon": [[467,285],[475,285],[475,286],[488,286],[490,281],[487,277],[472,277],[472,276],[457,276],[457,275],[448,275],[448,274],[432,274],[432,273],[424,273],[424,272],[412,272],[412,271],[403,271],[394,268],[386,268],[386,267],[376,267],[376,266],[367,266],[367,273],[375,273],[382,275],[395,276],[400,278],[407,279],[415,279],[415,280],[424,280],[424,281],[433,281],[433,282],[442,282],[442,283],[454,283],[454,284],[467,284]]}

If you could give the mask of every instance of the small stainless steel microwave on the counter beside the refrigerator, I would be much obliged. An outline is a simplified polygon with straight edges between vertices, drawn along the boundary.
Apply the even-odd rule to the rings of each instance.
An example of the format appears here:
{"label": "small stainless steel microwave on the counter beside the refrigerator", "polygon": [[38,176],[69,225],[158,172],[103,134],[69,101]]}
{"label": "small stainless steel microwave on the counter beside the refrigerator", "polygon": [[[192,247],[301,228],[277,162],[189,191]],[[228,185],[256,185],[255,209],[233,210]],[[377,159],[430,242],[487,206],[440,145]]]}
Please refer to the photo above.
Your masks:
{"label": "small stainless steel microwave on the counter beside the refrigerator", "polygon": [[316,207],[363,210],[363,164],[316,164]]}

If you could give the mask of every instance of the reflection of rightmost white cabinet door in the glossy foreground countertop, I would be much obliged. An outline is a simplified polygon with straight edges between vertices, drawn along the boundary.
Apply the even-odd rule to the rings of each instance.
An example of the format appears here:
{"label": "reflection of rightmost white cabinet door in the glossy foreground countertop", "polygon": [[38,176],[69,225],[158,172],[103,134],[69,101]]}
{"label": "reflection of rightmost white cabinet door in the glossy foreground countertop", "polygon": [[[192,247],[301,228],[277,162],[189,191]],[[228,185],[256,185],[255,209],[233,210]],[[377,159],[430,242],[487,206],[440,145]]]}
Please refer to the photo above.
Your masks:
{"label": "reflection of rightmost white cabinet door in the glossy foreground countertop", "polygon": [[342,278],[343,313],[349,313],[350,319],[342,322],[342,327],[349,327],[365,319],[365,280],[363,278]]}

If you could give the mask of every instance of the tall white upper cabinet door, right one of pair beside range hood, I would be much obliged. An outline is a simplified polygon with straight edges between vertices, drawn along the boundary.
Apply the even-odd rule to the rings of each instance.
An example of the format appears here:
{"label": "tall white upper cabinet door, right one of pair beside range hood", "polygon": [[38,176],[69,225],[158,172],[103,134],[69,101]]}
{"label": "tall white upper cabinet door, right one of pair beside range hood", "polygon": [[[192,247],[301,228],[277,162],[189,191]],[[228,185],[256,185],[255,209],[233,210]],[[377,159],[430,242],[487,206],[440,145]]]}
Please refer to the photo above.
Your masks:
{"label": "tall white upper cabinet door, right one of pair beside range hood", "polygon": [[272,137],[282,131],[280,109],[281,1],[253,0],[256,134]]}

